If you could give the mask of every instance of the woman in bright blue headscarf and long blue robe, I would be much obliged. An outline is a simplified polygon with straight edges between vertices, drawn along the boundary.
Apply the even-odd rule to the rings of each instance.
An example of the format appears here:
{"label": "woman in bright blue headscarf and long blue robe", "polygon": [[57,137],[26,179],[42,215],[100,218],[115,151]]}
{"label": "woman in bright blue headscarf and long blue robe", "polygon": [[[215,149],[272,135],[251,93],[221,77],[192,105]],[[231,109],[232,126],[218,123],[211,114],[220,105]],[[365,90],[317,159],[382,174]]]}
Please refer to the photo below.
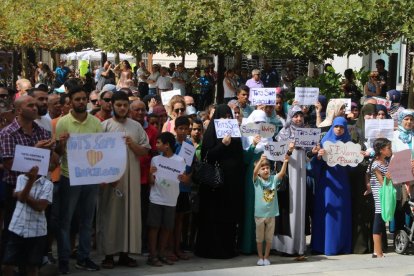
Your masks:
{"label": "woman in bright blue headscarf and long blue robe", "polygon": [[[350,140],[346,119],[337,117],[321,140],[321,147],[326,141]],[[328,166],[322,159],[324,152],[321,149],[312,160],[316,185],[311,246],[314,252],[325,255],[349,254],[352,252],[350,167]]]}

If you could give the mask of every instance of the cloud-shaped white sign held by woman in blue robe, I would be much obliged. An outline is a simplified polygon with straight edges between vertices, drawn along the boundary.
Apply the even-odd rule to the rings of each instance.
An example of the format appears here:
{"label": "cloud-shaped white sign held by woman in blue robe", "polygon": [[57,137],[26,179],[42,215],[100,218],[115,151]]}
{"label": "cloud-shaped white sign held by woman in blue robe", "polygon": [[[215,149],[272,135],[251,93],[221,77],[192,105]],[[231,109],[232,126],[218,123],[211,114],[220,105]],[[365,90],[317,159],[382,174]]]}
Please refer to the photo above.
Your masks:
{"label": "cloud-shaped white sign held by woman in blue robe", "polygon": [[360,144],[326,141],[323,144],[323,148],[325,149],[325,154],[322,158],[330,167],[336,165],[356,167],[364,159],[364,156],[361,154]]}

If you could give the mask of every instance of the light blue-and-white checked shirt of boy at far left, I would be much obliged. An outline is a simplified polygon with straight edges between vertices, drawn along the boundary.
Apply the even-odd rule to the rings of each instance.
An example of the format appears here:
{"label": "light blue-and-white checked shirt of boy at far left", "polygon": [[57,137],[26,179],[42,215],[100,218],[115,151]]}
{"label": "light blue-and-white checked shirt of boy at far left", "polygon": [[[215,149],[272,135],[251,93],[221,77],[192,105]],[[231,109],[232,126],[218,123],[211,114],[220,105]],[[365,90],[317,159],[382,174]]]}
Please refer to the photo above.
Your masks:
{"label": "light blue-and-white checked shirt of boy at far left", "polygon": [[[22,191],[28,180],[26,175],[19,175],[17,178],[16,192]],[[29,195],[34,199],[44,199],[52,203],[53,183],[42,176],[33,183]],[[28,204],[17,201],[9,230],[23,238],[46,236],[47,222],[45,211],[35,211]]]}

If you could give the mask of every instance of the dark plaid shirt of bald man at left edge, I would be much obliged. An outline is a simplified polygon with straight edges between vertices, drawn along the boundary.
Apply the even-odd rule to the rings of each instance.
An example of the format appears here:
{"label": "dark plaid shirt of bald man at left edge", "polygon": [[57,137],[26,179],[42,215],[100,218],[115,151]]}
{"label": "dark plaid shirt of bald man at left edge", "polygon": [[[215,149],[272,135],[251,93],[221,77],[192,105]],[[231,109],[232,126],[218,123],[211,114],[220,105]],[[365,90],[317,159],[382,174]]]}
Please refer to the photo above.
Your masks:
{"label": "dark plaid shirt of bald man at left edge", "polygon": [[[41,140],[50,139],[50,132],[33,122],[32,135],[25,134],[15,119],[10,125],[0,131],[0,152],[3,160],[14,158],[16,145],[34,147]],[[4,170],[3,182],[6,185],[16,185],[18,172]]]}

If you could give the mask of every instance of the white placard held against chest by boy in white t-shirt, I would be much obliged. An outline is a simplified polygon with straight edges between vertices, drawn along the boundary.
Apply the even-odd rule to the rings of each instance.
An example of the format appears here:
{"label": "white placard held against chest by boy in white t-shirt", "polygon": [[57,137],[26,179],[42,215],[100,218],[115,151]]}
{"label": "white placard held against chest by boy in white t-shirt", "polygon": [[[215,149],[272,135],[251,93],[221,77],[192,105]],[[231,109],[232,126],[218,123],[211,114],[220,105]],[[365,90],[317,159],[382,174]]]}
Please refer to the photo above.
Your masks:
{"label": "white placard held against chest by boy in white t-shirt", "polygon": [[180,182],[178,176],[185,171],[185,162],[177,162],[161,155],[154,158],[154,165],[157,167],[155,177],[158,179]]}

